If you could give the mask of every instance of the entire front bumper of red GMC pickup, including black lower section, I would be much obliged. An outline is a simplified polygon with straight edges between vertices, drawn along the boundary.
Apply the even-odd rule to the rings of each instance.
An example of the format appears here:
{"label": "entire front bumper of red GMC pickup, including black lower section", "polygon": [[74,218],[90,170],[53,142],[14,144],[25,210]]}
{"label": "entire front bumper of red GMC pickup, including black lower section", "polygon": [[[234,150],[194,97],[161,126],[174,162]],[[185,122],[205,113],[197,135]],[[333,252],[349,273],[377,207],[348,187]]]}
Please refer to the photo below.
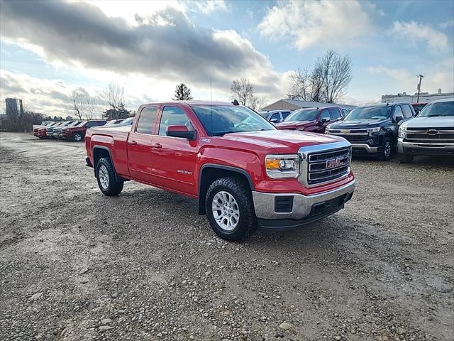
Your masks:
{"label": "entire front bumper of red GMC pickup, including black lower section", "polygon": [[255,215],[260,229],[294,229],[343,209],[345,202],[353,196],[354,190],[355,180],[335,190],[315,195],[253,191]]}

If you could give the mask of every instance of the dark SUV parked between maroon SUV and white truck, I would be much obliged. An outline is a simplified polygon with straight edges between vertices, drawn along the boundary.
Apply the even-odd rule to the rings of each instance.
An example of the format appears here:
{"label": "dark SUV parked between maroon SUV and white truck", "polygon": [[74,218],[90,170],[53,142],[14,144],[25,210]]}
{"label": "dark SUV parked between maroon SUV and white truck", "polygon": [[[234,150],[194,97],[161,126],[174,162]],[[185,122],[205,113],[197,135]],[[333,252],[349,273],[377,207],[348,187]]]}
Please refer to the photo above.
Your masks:
{"label": "dark SUV parked between maroon SUV and white truck", "polygon": [[402,122],[415,116],[410,103],[382,103],[355,108],[341,122],[326,127],[326,134],[342,136],[352,144],[353,154],[389,160],[397,147]]}

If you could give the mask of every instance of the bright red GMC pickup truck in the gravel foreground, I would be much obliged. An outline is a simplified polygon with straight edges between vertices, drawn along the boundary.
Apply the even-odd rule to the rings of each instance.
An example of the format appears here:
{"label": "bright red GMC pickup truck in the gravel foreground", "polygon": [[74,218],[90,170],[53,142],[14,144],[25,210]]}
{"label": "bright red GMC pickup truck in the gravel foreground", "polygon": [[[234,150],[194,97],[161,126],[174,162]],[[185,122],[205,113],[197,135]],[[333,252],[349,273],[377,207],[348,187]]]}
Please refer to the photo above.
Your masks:
{"label": "bright red GMC pickup truck in the gravel foreground", "polygon": [[105,195],[135,180],[196,198],[230,241],[332,215],[355,187],[348,141],[279,131],[230,103],[144,104],[132,126],[88,129],[85,147]]}

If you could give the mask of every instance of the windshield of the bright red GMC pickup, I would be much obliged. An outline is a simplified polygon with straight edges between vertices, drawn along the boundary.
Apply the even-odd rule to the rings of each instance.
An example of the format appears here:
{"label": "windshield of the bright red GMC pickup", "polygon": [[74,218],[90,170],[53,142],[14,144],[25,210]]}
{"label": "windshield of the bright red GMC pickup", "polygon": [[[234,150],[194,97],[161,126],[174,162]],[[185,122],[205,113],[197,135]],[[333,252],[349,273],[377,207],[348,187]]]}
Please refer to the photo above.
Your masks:
{"label": "windshield of the bright red GMC pickup", "polygon": [[247,107],[204,105],[192,107],[192,111],[209,136],[244,131],[276,130],[270,122]]}

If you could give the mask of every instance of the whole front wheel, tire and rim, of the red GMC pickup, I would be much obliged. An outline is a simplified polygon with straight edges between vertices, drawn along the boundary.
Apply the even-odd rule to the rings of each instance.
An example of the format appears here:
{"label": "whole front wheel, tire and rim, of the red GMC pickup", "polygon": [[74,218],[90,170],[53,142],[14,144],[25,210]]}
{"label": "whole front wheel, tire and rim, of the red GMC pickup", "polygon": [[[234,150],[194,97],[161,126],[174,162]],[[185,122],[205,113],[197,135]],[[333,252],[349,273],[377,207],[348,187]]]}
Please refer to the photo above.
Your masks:
{"label": "whole front wheel, tire and rim, of the red GMC pickup", "polygon": [[205,210],[214,232],[230,242],[249,237],[257,230],[252,193],[239,178],[221,178],[206,191]]}

